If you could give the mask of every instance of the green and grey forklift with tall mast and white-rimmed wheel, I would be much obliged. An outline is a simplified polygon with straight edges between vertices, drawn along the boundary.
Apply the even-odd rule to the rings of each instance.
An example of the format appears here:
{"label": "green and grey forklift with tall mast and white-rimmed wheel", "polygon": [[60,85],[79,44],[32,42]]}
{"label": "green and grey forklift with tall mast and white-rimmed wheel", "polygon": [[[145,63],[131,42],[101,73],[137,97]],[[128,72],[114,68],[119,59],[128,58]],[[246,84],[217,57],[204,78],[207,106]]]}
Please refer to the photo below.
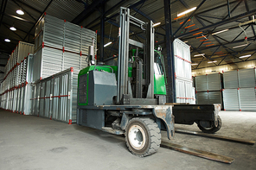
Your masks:
{"label": "green and grey forklift with tall mast and white-rimmed wheel", "polygon": [[[131,24],[144,31],[144,43],[130,38]],[[208,133],[221,124],[220,104],[166,104],[163,59],[154,50],[154,31],[152,21],[143,22],[121,7],[118,66],[96,65],[89,50],[90,66],[78,77],[77,124],[125,135],[127,148],[139,157],[157,152],[161,130],[172,139],[175,123],[197,123]],[[131,46],[137,50],[129,57]]]}

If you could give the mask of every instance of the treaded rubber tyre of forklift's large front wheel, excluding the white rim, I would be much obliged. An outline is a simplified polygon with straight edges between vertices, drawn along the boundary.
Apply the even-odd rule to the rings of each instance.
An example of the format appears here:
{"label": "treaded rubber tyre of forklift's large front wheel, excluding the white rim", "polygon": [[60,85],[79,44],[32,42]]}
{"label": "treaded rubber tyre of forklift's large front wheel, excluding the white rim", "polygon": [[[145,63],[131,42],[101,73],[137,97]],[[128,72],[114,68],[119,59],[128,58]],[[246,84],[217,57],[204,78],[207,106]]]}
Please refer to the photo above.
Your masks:
{"label": "treaded rubber tyre of forklift's large front wheel, excluding the white rim", "polygon": [[[129,138],[129,129],[131,128],[132,125],[138,125],[142,129],[144,129],[144,133],[145,133],[144,148],[136,149],[131,146],[131,143],[129,142],[128,138]],[[155,123],[150,118],[140,118],[140,117],[132,118],[127,124],[127,127],[125,129],[125,142],[131,154],[137,155],[139,157],[148,156],[150,154],[155,154],[157,152],[157,149],[160,147],[161,132],[157,126],[157,123]]]}

